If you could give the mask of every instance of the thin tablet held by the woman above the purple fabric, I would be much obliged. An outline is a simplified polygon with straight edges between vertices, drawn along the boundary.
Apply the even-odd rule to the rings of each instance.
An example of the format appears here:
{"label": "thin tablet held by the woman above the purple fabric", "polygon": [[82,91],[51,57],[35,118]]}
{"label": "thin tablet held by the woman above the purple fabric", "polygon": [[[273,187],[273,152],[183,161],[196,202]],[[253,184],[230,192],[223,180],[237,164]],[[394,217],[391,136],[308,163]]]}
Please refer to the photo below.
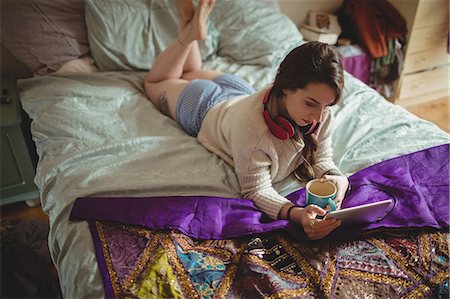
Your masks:
{"label": "thin tablet held by the woman above the purple fabric", "polygon": [[381,220],[389,211],[392,199],[328,212],[324,219],[340,219],[342,224],[364,224]]}

